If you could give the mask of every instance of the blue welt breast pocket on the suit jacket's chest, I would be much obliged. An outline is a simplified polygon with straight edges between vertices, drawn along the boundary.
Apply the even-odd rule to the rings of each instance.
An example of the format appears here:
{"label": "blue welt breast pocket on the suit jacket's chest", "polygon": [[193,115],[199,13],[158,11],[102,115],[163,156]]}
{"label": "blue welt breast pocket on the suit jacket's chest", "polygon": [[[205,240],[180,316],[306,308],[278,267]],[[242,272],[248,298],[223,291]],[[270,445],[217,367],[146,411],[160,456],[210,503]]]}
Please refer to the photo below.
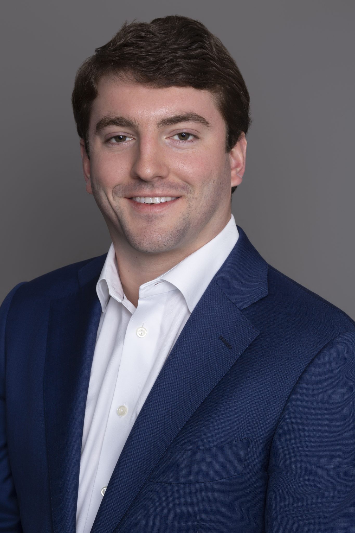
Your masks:
{"label": "blue welt breast pocket on the suit jacket's chest", "polygon": [[148,481],[158,483],[204,483],[241,475],[250,439],[211,448],[168,450]]}

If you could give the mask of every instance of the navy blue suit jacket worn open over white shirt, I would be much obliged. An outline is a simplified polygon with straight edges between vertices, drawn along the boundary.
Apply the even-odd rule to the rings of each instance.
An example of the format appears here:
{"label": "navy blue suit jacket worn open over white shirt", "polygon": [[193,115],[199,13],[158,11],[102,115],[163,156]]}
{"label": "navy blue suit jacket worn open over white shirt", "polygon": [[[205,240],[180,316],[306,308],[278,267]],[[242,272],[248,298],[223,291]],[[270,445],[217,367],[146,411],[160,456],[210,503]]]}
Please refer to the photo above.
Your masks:
{"label": "navy blue suit jacket worn open over white shirt", "polygon": [[[355,531],[355,322],[238,231],[92,533]],[[105,257],[20,283],[1,306],[0,531],[75,532]]]}

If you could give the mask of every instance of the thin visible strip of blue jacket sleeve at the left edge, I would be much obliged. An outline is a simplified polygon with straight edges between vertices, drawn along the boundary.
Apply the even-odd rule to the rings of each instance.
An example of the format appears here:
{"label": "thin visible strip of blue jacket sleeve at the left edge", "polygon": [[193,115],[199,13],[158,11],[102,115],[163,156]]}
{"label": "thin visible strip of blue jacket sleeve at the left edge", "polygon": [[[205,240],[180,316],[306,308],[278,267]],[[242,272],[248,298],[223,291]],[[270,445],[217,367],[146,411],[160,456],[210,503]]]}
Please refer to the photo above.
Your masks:
{"label": "thin visible strip of blue jacket sleeve at the left edge", "polygon": [[6,442],[6,320],[13,295],[26,283],[16,285],[0,307],[0,531],[22,533],[16,491],[11,475],[11,465]]}

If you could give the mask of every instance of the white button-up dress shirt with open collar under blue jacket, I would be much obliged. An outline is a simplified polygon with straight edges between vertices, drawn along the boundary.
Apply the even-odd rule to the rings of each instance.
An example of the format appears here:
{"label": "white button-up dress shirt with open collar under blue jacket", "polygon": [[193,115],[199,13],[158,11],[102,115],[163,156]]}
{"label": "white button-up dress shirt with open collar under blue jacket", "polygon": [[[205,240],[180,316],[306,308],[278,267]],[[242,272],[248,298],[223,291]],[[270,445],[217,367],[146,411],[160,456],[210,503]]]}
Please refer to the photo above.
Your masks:
{"label": "white button-up dress shirt with open collar under blue jacket", "polygon": [[238,240],[231,215],[216,237],[139,287],[123,293],[113,244],[96,291],[98,325],[82,434],[76,533],[89,533],[105,488],[155,379],[195,305]]}

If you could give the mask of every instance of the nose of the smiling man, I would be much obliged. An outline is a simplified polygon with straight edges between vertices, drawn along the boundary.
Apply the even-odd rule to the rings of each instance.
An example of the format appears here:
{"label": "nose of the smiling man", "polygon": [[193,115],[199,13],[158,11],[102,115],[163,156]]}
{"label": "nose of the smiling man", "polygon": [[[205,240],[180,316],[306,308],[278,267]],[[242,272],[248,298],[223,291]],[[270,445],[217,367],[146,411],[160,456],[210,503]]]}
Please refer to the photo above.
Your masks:
{"label": "nose of the smiling man", "polygon": [[169,168],[164,147],[153,136],[140,139],[131,167],[131,176],[144,181],[167,177]]}

